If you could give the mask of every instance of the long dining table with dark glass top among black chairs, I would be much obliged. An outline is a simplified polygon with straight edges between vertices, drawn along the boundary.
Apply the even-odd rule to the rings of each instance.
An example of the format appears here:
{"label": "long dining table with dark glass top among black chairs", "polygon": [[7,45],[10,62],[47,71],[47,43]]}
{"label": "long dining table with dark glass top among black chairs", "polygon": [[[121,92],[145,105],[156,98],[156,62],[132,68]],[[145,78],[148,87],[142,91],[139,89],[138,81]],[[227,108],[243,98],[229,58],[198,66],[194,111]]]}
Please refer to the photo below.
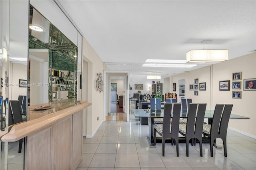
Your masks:
{"label": "long dining table with dark glass top among black chairs", "polygon": [[[148,118],[148,136],[146,136],[146,139],[148,141],[148,144],[150,148],[154,148],[154,118],[163,118],[164,117],[164,109],[133,109],[134,117],[136,118]],[[214,110],[206,110],[204,114],[204,118],[208,119],[208,124],[210,125],[212,123]],[[180,111],[180,118],[188,118],[188,110],[182,110]],[[231,114],[230,119],[250,119],[249,117],[244,117],[240,115]],[[179,138],[179,142],[184,142],[183,138]],[[157,142],[162,142],[161,137],[156,138]],[[170,141],[166,141],[170,142]],[[203,138],[204,143],[208,143],[208,137]],[[222,148],[222,146],[215,146],[216,148]]]}

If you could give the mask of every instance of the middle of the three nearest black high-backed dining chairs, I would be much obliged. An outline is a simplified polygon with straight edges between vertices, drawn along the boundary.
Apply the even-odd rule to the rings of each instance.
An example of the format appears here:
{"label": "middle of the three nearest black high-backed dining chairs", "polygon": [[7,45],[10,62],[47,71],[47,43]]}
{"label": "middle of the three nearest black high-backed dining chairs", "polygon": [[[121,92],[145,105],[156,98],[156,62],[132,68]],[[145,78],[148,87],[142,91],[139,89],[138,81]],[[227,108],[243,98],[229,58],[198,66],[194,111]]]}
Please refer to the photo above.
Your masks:
{"label": "middle of the three nearest black high-backed dining chairs", "polygon": [[[191,140],[191,145],[194,145],[194,138],[199,141],[200,156],[203,156],[202,152],[202,132],[204,124],[204,114],[206,110],[206,104],[190,103],[188,111],[187,124],[179,126],[179,133],[186,138],[186,156],[188,156],[188,144]],[[195,123],[196,119],[196,123]]]}

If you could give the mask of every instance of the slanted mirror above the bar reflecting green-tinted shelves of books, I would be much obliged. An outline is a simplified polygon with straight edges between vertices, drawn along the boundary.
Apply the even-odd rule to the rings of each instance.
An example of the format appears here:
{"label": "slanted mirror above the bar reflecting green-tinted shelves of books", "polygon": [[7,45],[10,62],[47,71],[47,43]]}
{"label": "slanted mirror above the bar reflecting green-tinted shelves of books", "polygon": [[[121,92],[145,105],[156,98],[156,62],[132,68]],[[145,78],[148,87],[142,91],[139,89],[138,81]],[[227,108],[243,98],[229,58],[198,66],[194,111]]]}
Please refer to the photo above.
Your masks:
{"label": "slanted mirror above the bar reflecting green-tinted shelves of books", "polygon": [[33,6],[29,25],[28,105],[76,99],[76,45]]}

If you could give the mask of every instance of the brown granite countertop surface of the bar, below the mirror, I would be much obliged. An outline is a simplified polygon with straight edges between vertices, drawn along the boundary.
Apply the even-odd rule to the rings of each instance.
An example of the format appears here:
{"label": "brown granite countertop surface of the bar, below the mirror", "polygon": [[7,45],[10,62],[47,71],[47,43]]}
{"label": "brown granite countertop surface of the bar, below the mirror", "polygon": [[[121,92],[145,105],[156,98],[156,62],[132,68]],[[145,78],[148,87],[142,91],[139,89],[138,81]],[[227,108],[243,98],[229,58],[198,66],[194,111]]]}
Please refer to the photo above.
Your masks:
{"label": "brown granite countertop surface of the bar, below the mirror", "polygon": [[[49,115],[51,113],[60,111],[62,109],[66,109],[68,107],[72,107],[75,105],[79,105],[80,101],[76,101],[74,99],[67,99],[67,100],[62,100],[62,101],[56,101],[56,102],[52,102],[52,103],[43,103],[43,104],[39,104],[39,105],[32,105],[32,106],[28,106],[28,121],[45,116],[45,115]],[[45,110],[34,110],[34,108],[38,108],[38,107],[46,107],[46,106],[50,106],[50,109],[45,109]]]}

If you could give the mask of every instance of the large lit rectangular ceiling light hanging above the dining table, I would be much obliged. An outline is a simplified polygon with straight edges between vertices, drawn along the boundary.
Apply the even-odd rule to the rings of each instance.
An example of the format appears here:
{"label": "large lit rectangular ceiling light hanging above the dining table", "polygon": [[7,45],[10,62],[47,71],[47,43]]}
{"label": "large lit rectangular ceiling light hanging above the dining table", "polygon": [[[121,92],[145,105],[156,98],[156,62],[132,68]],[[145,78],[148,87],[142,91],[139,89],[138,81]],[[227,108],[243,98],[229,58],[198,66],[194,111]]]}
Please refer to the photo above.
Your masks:
{"label": "large lit rectangular ceiling light hanging above the dining table", "polygon": [[186,55],[187,63],[221,62],[228,60],[228,49],[190,50]]}

